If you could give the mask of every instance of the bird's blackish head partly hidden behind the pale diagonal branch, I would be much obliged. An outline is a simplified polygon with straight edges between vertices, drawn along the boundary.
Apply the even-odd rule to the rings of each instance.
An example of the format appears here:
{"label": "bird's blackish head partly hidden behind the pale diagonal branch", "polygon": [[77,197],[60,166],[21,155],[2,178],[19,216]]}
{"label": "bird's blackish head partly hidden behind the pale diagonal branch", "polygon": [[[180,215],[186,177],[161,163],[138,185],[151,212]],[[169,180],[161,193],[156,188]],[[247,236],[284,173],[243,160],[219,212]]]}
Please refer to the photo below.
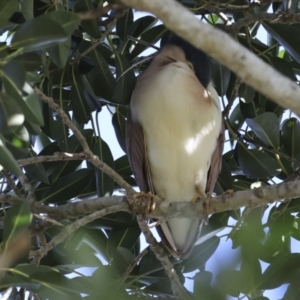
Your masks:
{"label": "bird's blackish head partly hidden behind the pale diagonal branch", "polygon": [[166,46],[174,46],[183,50],[185,58],[193,66],[198,80],[206,88],[211,82],[211,67],[208,56],[203,51],[174,34],[163,45],[163,48]]}

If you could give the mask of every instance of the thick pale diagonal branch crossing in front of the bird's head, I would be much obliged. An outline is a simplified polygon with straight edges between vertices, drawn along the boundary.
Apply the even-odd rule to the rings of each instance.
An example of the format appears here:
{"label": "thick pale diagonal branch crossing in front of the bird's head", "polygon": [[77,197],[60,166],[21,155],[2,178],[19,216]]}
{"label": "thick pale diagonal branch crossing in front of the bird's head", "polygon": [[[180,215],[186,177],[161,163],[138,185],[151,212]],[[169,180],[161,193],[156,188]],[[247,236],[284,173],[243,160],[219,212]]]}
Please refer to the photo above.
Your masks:
{"label": "thick pale diagonal branch crossing in front of the bird's head", "polygon": [[124,4],[148,11],[195,47],[234,71],[243,82],[300,115],[300,88],[264,63],[255,54],[221,30],[199,22],[190,11],[174,0],[121,0]]}

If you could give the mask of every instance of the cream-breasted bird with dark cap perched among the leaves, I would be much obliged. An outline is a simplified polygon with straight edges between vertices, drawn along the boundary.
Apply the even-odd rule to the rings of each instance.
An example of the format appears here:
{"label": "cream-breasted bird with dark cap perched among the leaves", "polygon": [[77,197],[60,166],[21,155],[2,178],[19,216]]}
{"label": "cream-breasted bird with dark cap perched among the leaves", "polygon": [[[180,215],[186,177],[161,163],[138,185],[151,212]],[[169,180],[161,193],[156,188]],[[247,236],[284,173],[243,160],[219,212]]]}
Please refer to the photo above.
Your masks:
{"label": "cream-breasted bird with dark cap perched among the leaves", "polygon": [[[137,185],[163,200],[188,202],[213,193],[221,170],[224,125],[209,57],[172,34],[138,76],[127,116],[126,149]],[[156,226],[176,259],[188,258],[202,219]]]}

